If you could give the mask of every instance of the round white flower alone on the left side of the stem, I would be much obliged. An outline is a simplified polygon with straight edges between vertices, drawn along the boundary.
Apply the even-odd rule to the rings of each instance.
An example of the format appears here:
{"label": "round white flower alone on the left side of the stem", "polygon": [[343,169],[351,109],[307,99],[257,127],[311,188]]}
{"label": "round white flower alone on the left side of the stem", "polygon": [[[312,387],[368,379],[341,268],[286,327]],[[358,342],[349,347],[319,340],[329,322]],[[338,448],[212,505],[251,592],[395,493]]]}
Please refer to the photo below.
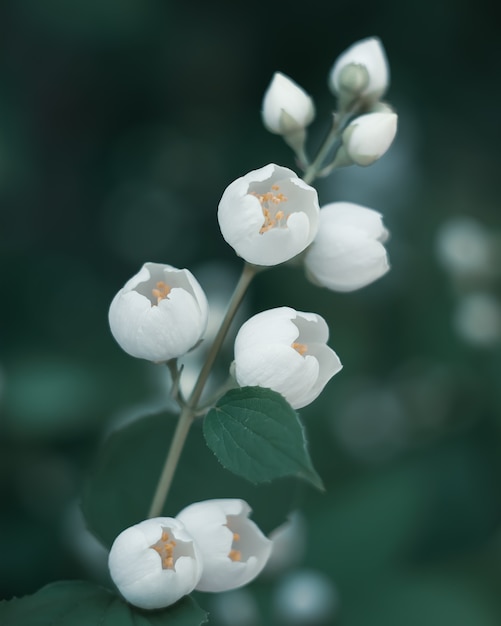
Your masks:
{"label": "round white flower alone on the left side of the stem", "polygon": [[145,263],[113,299],[109,322],[125,352],[160,363],[186,354],[200,341],[208,312],[191,272]]}

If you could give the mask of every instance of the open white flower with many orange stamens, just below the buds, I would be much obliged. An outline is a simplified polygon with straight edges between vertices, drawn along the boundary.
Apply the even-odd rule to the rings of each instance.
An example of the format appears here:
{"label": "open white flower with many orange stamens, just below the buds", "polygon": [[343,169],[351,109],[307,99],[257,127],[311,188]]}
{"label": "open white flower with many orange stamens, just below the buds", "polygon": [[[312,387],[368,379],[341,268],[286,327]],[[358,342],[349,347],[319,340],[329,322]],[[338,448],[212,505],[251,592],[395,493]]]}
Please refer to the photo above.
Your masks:
{"label": "open white flower with many orange stamens, just below the buds", "polygon": [[254,265],[277,265],[313,241],[318,213],[316,190],[292,170],[270,163],[226,188],[218,220],[239,256]]}

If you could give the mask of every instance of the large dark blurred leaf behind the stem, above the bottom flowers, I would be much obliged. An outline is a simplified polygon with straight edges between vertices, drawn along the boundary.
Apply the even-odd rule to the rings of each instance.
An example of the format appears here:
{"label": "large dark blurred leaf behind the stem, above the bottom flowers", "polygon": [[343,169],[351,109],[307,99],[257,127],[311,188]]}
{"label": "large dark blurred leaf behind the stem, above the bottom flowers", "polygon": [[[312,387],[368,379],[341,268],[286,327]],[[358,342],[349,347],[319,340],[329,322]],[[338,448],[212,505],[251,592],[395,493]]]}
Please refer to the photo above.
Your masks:
{"label": "large dark blurred leaf behind the stem, above the bottom flowers", "polygon": [[[176,416],[149,415],[113,432],[101,446],[83,490],[89,529],[108,547],[125,528],[146,519],[176,426]],[[191,427],[162,511],[175,516],[193,502],[242,498],[263,532],[298,506],[297,479],[256,487],[227,472],[205,445],[201,420]]]}

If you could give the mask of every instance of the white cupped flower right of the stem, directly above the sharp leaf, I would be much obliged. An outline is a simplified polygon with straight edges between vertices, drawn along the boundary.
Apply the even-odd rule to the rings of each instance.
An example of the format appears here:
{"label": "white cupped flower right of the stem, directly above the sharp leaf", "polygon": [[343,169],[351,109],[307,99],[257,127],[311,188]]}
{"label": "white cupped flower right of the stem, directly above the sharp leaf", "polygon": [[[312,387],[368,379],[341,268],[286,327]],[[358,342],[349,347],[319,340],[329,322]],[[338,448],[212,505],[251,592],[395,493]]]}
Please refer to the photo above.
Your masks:
{"label": "white cupped flower right of the stem, directly above the sharp leaf", "polygon": [[258,313],[235,339],[235,378],[242,387],[281,393],[295,409],[306,406],[342,367],[328,338],[327,323],[315,313],[290,307]]}

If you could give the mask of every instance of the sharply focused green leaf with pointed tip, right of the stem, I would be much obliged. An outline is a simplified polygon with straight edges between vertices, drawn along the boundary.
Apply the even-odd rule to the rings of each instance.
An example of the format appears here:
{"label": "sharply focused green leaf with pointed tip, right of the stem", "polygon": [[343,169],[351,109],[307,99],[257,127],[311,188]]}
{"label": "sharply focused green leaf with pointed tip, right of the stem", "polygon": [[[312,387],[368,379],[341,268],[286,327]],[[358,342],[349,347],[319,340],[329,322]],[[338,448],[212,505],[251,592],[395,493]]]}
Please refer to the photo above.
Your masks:
{"label": "sharply focused green leaf with pointed tip, right of the stem", "polygon": [[298,414],[271,389],[229,391],[207,414],[204,435],[223,467],[253,483],[298,476],[323,489]]}

